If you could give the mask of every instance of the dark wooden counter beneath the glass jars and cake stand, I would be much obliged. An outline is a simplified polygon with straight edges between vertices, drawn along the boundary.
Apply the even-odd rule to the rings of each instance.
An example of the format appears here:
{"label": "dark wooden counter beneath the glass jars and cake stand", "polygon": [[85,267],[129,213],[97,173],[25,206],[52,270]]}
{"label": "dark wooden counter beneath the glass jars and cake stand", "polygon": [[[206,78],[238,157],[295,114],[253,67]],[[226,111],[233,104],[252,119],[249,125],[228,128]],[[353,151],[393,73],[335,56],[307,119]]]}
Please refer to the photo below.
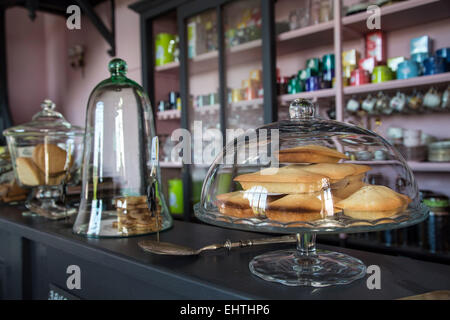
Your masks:
{"label": "dark wooden counter beneath the glass jars and cake stand", "polygon": [[[350,250],[340,251],[381,268],[381,290],[369,290],[367,277],[349,285],[310,288],[270,283],[252,275],[255,255],[288,248],[275,245],[211,252],[198,257],[156,256],[137,242],[154,236],[88,239],[69,223],[24,217],[21,208],[0,207],[0,296],[47,299],[51,290],[81,299],[396,299],[450,289],[450,266]],[[260,234],[175,221],[162,241],[194,248],[225,239]],[[81,289],[66,286],[69,265],[81,269]]]}

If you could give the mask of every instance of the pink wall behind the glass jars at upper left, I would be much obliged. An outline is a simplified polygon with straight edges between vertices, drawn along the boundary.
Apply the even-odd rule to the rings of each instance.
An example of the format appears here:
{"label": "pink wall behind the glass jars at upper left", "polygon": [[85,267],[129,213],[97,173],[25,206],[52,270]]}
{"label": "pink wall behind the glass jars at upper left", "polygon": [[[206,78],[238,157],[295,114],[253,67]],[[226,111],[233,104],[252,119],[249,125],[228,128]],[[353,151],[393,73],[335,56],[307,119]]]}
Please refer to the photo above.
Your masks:
{"label": "pink wall behind the glass jars at upper left", "polygon": [[[128,76],[141,82],[139,15],[128,8],[135,0],[116,0],[116,53],[128,63]],[[96,7],[109,27],[109,3]],[[72,123],[84,126],[94,86],[108,77],[107,42],[85,16],[81,30],[66,28],[64,17],[38,12],[34,21],[23,8],[6,11],[8,95],[15,124],[31,120],[45,98],[57,104]],[[69,65],[68,48],[85,47],[85,68]]]}

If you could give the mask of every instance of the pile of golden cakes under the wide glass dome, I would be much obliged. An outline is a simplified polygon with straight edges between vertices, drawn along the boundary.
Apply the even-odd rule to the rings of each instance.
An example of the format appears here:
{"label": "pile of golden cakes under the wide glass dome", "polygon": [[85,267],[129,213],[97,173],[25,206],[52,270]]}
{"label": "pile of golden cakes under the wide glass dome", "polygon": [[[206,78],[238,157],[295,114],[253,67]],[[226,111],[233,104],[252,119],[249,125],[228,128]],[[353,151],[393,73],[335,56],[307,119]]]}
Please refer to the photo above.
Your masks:
{"label": "pile of golden cakes under the wide glass dome", "polygon": [[314,221],[343,212],[355,219],[379,219],[406,209],[407,196],[364,183],[370,166],[339,163],[348,159],[334,149],[307,145],[281,150],[280,168],[242,174],[243,191],[216,197],[219,212],[238,218],[268,218],[289,223]]}

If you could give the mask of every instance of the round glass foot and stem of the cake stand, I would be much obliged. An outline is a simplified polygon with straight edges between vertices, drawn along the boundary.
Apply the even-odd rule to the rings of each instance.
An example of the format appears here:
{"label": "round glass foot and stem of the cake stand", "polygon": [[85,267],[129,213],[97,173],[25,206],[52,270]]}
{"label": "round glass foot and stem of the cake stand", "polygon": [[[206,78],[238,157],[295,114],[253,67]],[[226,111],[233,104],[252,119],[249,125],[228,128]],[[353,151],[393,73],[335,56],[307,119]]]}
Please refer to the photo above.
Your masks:
{"label": "round glass foot and stem of the cake stand", "polygon": [[315,234],[297,234],[297,248],[256,256],[250,271],[287,286],[327,287],[348,284],[366,275],[366,266],[339,252],[316,250]]}

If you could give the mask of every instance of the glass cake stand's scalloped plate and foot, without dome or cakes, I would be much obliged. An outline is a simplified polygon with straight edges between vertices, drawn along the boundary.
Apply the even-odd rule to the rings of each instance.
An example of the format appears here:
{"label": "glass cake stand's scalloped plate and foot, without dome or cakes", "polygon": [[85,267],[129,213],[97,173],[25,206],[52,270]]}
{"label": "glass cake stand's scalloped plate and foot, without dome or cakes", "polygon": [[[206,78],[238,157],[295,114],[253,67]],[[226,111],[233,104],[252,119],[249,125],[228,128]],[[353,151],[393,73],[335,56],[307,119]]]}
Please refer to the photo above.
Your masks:
{"label": "glass cake stand's scalloped plate and foot, without dome or cakes", "polygon": [[357,233],[405,228],[424,221],[429,209],[419,205],[392,218],[355,220],[337,214],[332,219],[316,222],[280,223],[260,219],[233,218],[218,210],[205,210],[200,203],[194,206],[201,221],[231,229],[276,234],[296,234],[295,248],[268,252],[254,257],[250,271],[258,277],[288,286],[327,287],[348,284],[366,275],[364,263],[349,255],[316,248],[317,234]]}

